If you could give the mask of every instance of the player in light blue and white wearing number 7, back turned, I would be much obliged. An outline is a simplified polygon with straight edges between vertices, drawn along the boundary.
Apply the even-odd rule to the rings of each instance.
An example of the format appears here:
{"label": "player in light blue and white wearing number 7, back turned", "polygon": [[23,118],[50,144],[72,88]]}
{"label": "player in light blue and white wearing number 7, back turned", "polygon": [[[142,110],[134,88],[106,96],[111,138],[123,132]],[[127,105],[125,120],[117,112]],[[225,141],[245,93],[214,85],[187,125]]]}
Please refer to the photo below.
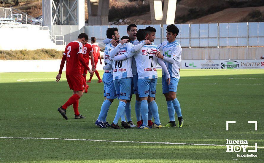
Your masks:
{"label": "player in light blue and white wearing number 7, back turned", "polygon": [[[158,106],[154,100],[156,94],[156,84],[157,84],[157,61],[160,66],[164,69],[167,74],[167,81],[170,82],[170,76],[168,70],[166,68],[165,63],[155,57],[155,52],[159,51],[158,47],[151,42],[151,44],[145,44],[146,39],[146,31],[144,29],[140,29],[137,34],[137,39],[140,43],[136,46],[143,46],[138,51],[125,53],[124,55],[120,55],[117,57],[125,56],[130,58],[132,56],[135,57],[136,65],[137,65],[137,72],[138,72],[138,87],[139,89],[139,98],[141,100],[141,116],[143,119],[143,124],[141,124],[139,129],[148,129],[148,112],[149,107],[155,119],[155,123],[153,123],[150,128],[160,128],[161,123],[158,114]],[[149,40],[150,41],[150,40]],[[136,47],[135,46],[135,47]],[[115,57],[114,60],[117,60]],[[124,58],[122,58],[124,59]]]}

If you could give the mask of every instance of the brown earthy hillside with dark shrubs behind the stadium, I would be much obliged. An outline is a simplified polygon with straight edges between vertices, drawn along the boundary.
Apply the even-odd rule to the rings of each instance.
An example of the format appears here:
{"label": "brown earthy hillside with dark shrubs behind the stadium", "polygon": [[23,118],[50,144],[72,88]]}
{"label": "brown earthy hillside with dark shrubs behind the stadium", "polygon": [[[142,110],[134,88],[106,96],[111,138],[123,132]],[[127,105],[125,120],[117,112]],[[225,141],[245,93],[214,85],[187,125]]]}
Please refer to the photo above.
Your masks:
{"label": "brown earthy hillside with dark shrubs behind the stadium", "polygon": [[[0,0],[0,7],[10,6],[42,15],[42,0]],[[149,0],[110,0],[109,25],[151,24],[150,17]],[[86,23],[88,19],[85,0]],[[252,21],[264,21],[264,0],[177,0],[175,23]]]}

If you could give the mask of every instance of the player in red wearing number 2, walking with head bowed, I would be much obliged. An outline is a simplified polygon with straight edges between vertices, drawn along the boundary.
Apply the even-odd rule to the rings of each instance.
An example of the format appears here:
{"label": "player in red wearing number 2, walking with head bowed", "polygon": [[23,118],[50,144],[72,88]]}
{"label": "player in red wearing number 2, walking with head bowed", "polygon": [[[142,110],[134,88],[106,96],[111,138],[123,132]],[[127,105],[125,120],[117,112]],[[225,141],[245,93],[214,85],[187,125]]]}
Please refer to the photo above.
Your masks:
{"label": "player in red wearing number 2, walking with head bowed", "polygon": [[68,119],[66,116],[66,109],[70,105],[73,105],[75,119],[85,118],[84,116],[79,114],[78,106],[79,98],[82,97],[82,90],[84,88],[83,76],[81,74],[81,66],[83,65],[85,68],[87,68],[89,73],[93,75],[93,71],[90,70],[83,58],[83,44],[86,44],[87,41],[87,34],[81,33],[79,34],[78,39],[76,41],[72,41],[66,46],[65,51],[63,53],[63,57],[61,59],[60,71],[56,76],[56,81],[60,81],[64,63],[65,61],[67,61],[66,78],[70,89],[73,90],[73,95],[63,106],[58,108],[58,111],[65,119]]}

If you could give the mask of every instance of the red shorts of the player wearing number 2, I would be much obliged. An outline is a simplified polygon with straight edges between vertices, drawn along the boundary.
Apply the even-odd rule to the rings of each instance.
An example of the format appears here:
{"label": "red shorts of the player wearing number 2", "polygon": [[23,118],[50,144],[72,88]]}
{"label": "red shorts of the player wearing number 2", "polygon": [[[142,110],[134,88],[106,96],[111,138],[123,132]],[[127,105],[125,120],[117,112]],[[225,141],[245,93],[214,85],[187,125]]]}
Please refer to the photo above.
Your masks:
{"label": "red shorts of the player wearing number 2", "polygon": [[71,90],[74,91],[82,91],[84,88],[83,83],[83,76],[81,74],[79,75],[67,75],[66,79],[68,81],[69,87]]}

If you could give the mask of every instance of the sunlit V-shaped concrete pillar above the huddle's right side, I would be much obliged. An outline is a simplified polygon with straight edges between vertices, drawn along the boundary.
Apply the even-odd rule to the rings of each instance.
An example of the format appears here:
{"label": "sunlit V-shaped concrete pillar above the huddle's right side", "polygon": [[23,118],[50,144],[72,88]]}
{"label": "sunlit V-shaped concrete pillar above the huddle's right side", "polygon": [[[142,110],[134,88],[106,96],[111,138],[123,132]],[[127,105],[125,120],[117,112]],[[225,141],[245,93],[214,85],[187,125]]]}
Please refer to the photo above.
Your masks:
{"label": "sunlit V-shaped concrete pillar above the huddle's right side", "polygon": [[150,0],[152,24],[173,24],[177,0],[164,0],[162,9],[161,0]]}

